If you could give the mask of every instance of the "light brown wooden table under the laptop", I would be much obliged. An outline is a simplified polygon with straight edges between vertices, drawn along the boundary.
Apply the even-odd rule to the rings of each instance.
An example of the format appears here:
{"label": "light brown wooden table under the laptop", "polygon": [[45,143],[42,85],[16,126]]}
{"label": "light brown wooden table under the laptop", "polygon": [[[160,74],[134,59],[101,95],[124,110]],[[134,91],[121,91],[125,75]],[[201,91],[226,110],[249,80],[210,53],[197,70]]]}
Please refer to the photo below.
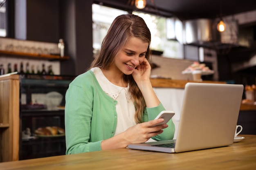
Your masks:
{"label": "light brown wooden table under the laptop", "polygon": [[183,153],[104,150],[0,163],[0,170],[255,170],[256,135],[231,146]]}

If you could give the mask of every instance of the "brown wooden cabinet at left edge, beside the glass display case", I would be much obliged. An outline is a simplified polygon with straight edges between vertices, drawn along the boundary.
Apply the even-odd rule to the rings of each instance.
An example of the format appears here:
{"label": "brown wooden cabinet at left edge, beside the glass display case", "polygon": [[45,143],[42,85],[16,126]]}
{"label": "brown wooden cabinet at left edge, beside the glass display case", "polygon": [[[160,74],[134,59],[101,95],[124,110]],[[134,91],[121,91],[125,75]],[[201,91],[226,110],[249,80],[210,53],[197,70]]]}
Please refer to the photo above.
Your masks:
{"label": "brown wooden cabinet at left edge, beside the glass display case", "polygon": [[19,159],[19,92],[19,75],[0,76],[0,162]]}

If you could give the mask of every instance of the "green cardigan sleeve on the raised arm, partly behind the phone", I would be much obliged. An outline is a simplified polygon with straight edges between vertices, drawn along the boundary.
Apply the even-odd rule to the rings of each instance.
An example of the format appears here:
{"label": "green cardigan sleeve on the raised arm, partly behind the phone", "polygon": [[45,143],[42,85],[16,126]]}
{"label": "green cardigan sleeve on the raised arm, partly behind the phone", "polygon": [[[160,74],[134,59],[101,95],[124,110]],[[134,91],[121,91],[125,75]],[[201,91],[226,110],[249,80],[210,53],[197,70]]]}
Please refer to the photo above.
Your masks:
{"label": "green cardigan sleeve on the raised arm, partly behind the phone", "polygon": [[[162,105],[162,103],[160,103],[157,107],[146,108],[144,110],[144,121],[150,121],[150,120],[155,119],[155,117],[157,117],[157,115],[163,110],[165,110],[165,108]],[[154,139],[156,141],[173,139],[174,132],[175,132],[175,125],[173,123],[173,119],[168,121],[167,124],[168,124],[168,128],[163,129],[164,132],[162,132],[161,134],[159,134],[155,137],[152,137],[152,139]]]}

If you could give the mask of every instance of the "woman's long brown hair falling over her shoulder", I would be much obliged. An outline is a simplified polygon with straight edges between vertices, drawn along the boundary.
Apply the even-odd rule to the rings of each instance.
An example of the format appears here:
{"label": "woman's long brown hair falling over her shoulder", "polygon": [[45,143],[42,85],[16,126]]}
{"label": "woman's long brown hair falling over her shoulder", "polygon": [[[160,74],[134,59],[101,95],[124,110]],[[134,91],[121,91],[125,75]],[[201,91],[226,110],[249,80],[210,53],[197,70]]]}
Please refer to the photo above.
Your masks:
{"label": "woman's long brown hair falling over her shoulder", "polygon": [[[151,34],[148,26],[141,17],[126,14],[118,16],[112,22],[110,29],[101,44],[101,51],[99,52],[99,55],[95,57],[90,68],[99,67],[108,69],[114,62],[115,57],[131,37],[139,38],[143,42],[148,43],[145,57],[149,60],[151,53]],[[135,121],[141,123],[143,122],[143,111],[146,107],[145,100],[132,75],[124,75],[124,79],[128,82],[130,86],[129,91],[135,100]]]}

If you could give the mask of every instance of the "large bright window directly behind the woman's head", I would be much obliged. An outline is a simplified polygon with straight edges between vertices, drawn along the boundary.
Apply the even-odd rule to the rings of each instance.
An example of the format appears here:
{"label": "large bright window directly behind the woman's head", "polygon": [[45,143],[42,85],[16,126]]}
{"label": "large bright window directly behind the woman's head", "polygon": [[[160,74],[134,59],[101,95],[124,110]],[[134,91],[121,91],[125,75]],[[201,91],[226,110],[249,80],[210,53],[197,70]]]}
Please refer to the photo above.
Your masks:
{"label": "large bright window directly behind the woman's head", "polygon": [[[94,55],[101,48],[101,43],[105,37],[113,20],[127,11],[105,7],[99,4],[92,4],[92,31]],[[149,13],[132,12],[143,18],[151,32],[151,49],[163,51],[164,57],[184,59],[183,45],[176,40],[168,40],[166,35],[167,18]]]}

